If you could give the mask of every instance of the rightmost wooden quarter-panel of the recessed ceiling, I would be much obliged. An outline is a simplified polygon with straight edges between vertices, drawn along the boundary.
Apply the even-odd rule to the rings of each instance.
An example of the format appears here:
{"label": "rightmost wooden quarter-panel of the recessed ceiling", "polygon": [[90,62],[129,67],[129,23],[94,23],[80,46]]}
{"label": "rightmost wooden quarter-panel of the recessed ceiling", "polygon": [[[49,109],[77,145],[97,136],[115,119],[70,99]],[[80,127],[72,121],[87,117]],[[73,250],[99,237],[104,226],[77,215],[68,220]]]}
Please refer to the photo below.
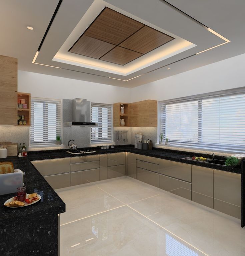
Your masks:
{"label": "rightmost wooden quarter-panel of the recessed ceiling", "polygon": [[173,39],[173,37],[160,31],[144,26],[124,42],[119,44],[119,46],[146,54],[147,52],[154,50]]}

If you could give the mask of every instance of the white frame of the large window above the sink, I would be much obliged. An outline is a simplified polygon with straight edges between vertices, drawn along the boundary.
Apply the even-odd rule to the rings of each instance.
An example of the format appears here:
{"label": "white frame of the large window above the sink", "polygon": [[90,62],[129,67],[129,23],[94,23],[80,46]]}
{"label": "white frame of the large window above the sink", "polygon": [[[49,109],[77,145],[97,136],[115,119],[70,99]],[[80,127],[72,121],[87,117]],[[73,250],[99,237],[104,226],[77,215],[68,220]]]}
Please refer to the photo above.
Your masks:
{"label": "white frame of the large window above the sink", "polygon": [[[190,149],[212,149],[214,151],[218,152],[244,152],[245,147],[242,148],[241,145],[236,145],[236,144],[220,144],[220,143],[205,143],[202,142],[202,101],[205,99],[213,99],[217,97],[222,97],[222,96],[229,96],[229,95],[240,95],[244,94],[245,95],[245,87],[241,88],[235,88],[235,89],[228,89],[228,90],[222,90],[222,91],[216,91],[213,93],[204,93],[204,94],[199,94],[199,95],[193,95],[193,96],[188,96],[188,97],[181,97],[181,98],[176,98],[176,99],[171,99],[171,100],[164,100],[164,101],[159,101],[159,124],[158,124],[158,138],[157,142],[159,143],[159,135],[160,133],[163,133],[163,137],[166,138],[166,105],[163,104],[173,104],[173,103],[181,103],[181,102],[188,102],[188,101],[198,101],[198,141],[197,142],[191,142],[191,141],[178,141],[178,140],[171,140],[170,142],[171,145],[167,145],[170,147],[186,147]],[[163,111],[162,111],[162,105]],[[165,119],[163,118],[165,117]],[[163,120],[163,122],[162,122]],[[163,125],[162,125],[163,124]],[[162,127],[163,126],[163,127]],[[164,144],[158,144],[160,146],[163,146]],[[237,150],[234,150],[234,148],[237,147]]]}

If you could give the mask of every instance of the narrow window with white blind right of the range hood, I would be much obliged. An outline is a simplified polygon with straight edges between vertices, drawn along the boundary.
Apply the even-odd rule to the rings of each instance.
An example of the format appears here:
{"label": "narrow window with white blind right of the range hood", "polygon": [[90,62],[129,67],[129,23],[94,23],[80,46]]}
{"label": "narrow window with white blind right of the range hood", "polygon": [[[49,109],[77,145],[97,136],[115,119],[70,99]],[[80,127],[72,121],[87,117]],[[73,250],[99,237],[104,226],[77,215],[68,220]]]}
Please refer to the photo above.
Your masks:
{"label": "narrow window with white blind right of the range hood", "polygon": [[98,123],[91,127],[91,143],[112,142],[112,105],[91,103],[91,122]]}

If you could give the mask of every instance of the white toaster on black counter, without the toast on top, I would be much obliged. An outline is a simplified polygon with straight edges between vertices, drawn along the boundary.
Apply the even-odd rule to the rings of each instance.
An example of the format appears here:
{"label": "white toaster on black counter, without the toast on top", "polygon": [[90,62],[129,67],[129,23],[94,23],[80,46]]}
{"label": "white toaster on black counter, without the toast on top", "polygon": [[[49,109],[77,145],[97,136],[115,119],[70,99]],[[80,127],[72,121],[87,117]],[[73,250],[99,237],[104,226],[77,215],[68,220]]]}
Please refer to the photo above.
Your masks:
{"label": "white toaster on black counter, without the toast on top", "polygon": [[25,172],[16,169],[12,173],[0,174],[0,195],[17,192],[17,187],[24,185],[23,175]]}

